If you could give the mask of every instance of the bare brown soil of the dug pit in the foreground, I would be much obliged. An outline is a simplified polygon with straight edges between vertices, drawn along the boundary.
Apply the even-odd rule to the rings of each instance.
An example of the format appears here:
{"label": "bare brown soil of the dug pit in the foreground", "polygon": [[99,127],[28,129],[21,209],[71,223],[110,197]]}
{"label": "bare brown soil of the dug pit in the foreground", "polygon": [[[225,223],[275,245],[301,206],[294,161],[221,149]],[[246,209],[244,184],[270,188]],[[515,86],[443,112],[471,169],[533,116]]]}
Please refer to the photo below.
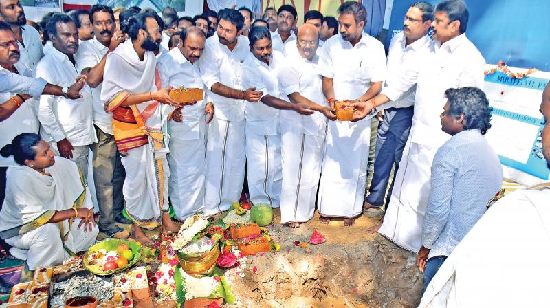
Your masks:
{"label": "bare brown soil of the dug pit in the foreground", "polygon": [[[281,227],[275,210],[268,229],[281,244],[276,253],[249,256],[245,277],[235,270],[225,276],[237,298],[224,307],[417,307],[423,278],[416,255],[379,234],[365,234],[378,217],[360,217],[344,227],[342,220],[320,223],[318,215],[300,228]],[[327,238],[309,244],[314,230]],[[306,248],[295,241],[307,243]]]}

